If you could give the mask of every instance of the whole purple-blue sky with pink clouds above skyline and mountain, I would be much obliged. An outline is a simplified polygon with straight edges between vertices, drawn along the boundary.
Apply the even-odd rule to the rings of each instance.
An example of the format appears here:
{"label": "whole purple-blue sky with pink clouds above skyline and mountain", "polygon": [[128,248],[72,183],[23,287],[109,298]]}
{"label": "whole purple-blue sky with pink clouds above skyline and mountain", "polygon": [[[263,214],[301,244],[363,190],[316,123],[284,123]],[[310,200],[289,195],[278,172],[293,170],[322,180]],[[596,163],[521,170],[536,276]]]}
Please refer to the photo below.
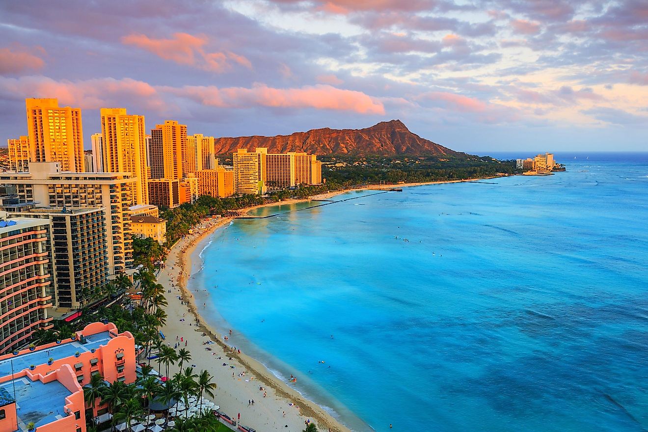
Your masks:
{"label": "whole purple-blue sky with pink clouds above skyline and mountain", "polygon": [[648,151],[648,1],[0,3],[2,141],[25,97],[216,137],[400,119],[464,152]]}

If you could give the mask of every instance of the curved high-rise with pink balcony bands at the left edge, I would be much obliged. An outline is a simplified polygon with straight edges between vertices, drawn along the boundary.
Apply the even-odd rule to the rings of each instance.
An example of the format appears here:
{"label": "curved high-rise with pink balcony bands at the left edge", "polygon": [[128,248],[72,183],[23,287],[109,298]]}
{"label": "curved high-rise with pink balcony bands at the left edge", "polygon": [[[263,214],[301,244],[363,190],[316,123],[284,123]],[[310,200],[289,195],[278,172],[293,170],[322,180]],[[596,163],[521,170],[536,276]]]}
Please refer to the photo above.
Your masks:
{"label": "curved high-rise with pink balcony bands at the left edge", "polygon": [[49,220],[0,215],[0,352],[26,345],[36,330],[52,328],[48,231]]}

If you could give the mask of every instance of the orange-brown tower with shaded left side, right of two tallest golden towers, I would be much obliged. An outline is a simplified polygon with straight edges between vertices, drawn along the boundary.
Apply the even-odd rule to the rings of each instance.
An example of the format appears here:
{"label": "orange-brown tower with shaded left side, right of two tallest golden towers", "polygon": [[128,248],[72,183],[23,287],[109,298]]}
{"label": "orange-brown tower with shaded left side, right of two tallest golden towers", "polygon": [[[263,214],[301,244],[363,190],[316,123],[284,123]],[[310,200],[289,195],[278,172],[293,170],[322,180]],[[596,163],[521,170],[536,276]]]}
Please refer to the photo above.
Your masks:
{"label": "orange-brown tower with shaded left side, right of two tallest golden towers", "polygon": [[189,174],[187,126],[166,120],[151,130],[151,178],[181,180]]}

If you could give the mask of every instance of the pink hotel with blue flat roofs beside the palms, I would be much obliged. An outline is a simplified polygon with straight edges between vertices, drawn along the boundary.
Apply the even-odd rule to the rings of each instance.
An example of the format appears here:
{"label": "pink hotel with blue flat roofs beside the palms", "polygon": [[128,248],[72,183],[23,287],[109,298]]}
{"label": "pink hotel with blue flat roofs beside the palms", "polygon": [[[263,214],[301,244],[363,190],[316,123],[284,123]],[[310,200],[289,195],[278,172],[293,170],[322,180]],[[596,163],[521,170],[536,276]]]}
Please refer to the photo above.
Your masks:
{"label": "pink hotel with blue flat roofs beside the palms", "polygon": [[110,420],[108,407],[86,407],[82,386],[95,374],[133,383],[137,350],[130,332],[113,323],[91,323],[71,339],[0,356],[0,432],[85,432],[86,417]]}

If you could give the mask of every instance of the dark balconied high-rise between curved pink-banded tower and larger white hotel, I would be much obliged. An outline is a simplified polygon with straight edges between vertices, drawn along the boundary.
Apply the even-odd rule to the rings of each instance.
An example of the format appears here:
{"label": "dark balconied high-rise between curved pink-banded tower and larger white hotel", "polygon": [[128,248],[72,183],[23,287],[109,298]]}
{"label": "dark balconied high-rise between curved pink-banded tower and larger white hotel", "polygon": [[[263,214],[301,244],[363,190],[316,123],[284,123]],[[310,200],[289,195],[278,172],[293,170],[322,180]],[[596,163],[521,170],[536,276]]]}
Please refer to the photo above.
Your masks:
{"label": "dark balconied high-rise between curved pink-banded tower and larger white hotel", "polygon": [[49,258],[54,276],[54,306],[78,309],[100,300],[108,282],[104,210],[36,207],[34,203],[21,207],[10,216],[50,222]]}

